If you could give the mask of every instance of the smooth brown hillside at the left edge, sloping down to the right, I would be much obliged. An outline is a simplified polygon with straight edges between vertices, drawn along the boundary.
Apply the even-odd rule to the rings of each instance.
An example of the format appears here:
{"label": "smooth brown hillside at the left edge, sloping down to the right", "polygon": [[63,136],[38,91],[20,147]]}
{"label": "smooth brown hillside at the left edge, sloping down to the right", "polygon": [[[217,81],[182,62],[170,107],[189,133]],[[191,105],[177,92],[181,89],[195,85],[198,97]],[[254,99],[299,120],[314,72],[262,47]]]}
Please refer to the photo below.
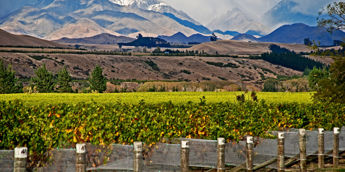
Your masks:
{"label": "smooth brown hillside at the left edge, sloping down to the right", "polygon": [[21,46],[45,46],[71,48],[70,46],[52,41],[42,40],[29,35],[15,35],[0,29],[0,45],[21,45]]}

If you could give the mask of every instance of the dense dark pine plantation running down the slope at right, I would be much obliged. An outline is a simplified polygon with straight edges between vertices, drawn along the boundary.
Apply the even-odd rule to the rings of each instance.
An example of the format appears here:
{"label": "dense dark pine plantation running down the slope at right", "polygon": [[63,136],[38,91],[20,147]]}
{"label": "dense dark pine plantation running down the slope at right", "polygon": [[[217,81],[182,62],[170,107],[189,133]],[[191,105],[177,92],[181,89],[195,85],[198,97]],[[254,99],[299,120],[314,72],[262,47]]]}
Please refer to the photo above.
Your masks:
{"label": "dense dark pine plantation running down the slope at right", "polygon": [[272,49],[271,53],[263,53],[261,55],[249,56],[251,59],[262,59],[272,64],[288,67],[297,71],[304,71],[306,67],[312,69],[315,67],[323,68],[325,64],[315,61],[311,58],[305,57],[300,54],[296,54],[294,51],[290,51],[286,48],[281,48],[278,45],[270,45]]}

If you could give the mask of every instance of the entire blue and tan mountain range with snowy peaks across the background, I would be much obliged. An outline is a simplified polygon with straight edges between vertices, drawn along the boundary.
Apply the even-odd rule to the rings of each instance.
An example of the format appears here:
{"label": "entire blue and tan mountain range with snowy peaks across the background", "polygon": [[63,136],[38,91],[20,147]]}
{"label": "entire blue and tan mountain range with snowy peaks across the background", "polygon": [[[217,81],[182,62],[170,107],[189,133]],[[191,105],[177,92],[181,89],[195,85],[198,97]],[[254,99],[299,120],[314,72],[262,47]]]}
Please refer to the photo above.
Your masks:
{"label": "entire blue and tan mountain range with snowy peaks across the background", "polygon": [[[235,8],[215,17],[205,27],[162,0],[0,0],[0,29],[46,40],[78,39],[100,34],[134,38],[140,33],[152,37],[172,36],[175,37],[175,40],[169,38],[172,42],[188,43],[208,41],[211,33],[219,33],[220,39],[251,42],[300,43],[300,37],[307,36],[324,44],[333,41],[332,36],[321,39],[312,35],[315,33],[313,29],[309,34],[302,34],[308,30],[306,26],[302,27],[303,31],[296,31],[296,36],[272,36],[278,33],[272,32],[272,28],[278,28],[283,23],[316,25],[317,14],[296,11],[295,8],[301,6],[296,0],[282,0],[259,17],[233,2]],[[294,33],[294,28],[300,29],[298,25],[293,25],[289,32]],[[244,34],[239,35],[241,33]],[[182,35],[187,37],[186,41],[181,40]],[[255,39],[249,35],[263,38]],[[291,37],[295,39],[284,40]]]}

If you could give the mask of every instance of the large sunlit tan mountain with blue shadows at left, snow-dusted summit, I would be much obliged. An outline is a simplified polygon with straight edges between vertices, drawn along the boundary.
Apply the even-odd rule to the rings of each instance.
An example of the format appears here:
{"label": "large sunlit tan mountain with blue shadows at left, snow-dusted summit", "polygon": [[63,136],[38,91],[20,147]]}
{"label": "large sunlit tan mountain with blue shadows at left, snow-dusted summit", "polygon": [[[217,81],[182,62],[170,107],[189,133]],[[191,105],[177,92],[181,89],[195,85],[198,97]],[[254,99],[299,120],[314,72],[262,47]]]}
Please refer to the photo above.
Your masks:
{"label": "large sunlit tan mountain with blue shadows at left, snow-dusted summit", "polygon": [[[166,7],[170,11],[163,10],[161,12],[174,13],[176,16],[185,15],[182,12],[177,13],[176,10],[174,12],[168,6]],[[156,9],[156,11],[158,10]],[[6,28],[14,33],[34,33],[45,39],[80,38],[100,33],[117,36],[121,34],[137,35],[142,32],[147,35],[172,35],[182,32],[188,36],[198,33],[194,29],[180,24],[175,19],[156,11],[120,6],[108,0],[55,0],[43,8],[26,6],[13,11],[11,14],[0,18],[0,28]],[[181,17],[180,20],[185,20],[187,17],[188,15],[184,18]],[[85,30],[87,28],[84,26],[86,34],[80,32],[83,30],[80,27],[83,26],[76,27],[83,18],[92,21],[88,23],[91,24],[93,29]],[[82,21],[84,24],[85,19]],[[15,21],[20,22],[22,25],[19,28],[13,27],[11,23]],[[194,26],[199,24],[193,20],[190,20],[189,23],[193,23]],[[73,28],[70,28],[71,24],[73,24]]]}

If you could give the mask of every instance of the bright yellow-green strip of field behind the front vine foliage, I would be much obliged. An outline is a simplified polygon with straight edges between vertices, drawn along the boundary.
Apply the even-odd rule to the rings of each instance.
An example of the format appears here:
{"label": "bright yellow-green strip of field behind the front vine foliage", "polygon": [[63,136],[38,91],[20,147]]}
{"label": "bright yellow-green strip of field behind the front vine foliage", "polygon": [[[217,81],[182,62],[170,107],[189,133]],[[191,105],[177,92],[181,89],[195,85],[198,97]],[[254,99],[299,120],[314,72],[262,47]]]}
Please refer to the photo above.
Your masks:
{"label": "bright yellow-green strip of field behind the front vine foliage", "polygon": [[[140,93],[111,93],[111,94],[66,94],[66,93],[38,93],[38,94],[3,94],[0,101],[21,99],[28,105],[56,105],[61,103],[93,103],[98,105],[112,105],[117,102],[138,104],[141,100],[156,104],[171,101],[173,104],[186,104],[188,101],[199,103],[205,96],[206,103],[229,102],[235,103],[236,95],[243,92],[140,92]],[[249,92],[250,93],[250,92]],[[249,93],[246,94],[248,99]],[[236,94],[236,95],[235,95]],[[266,103],[300,103],[312,102],[313,93],[268,93],[258,92],[257,96]]]}

